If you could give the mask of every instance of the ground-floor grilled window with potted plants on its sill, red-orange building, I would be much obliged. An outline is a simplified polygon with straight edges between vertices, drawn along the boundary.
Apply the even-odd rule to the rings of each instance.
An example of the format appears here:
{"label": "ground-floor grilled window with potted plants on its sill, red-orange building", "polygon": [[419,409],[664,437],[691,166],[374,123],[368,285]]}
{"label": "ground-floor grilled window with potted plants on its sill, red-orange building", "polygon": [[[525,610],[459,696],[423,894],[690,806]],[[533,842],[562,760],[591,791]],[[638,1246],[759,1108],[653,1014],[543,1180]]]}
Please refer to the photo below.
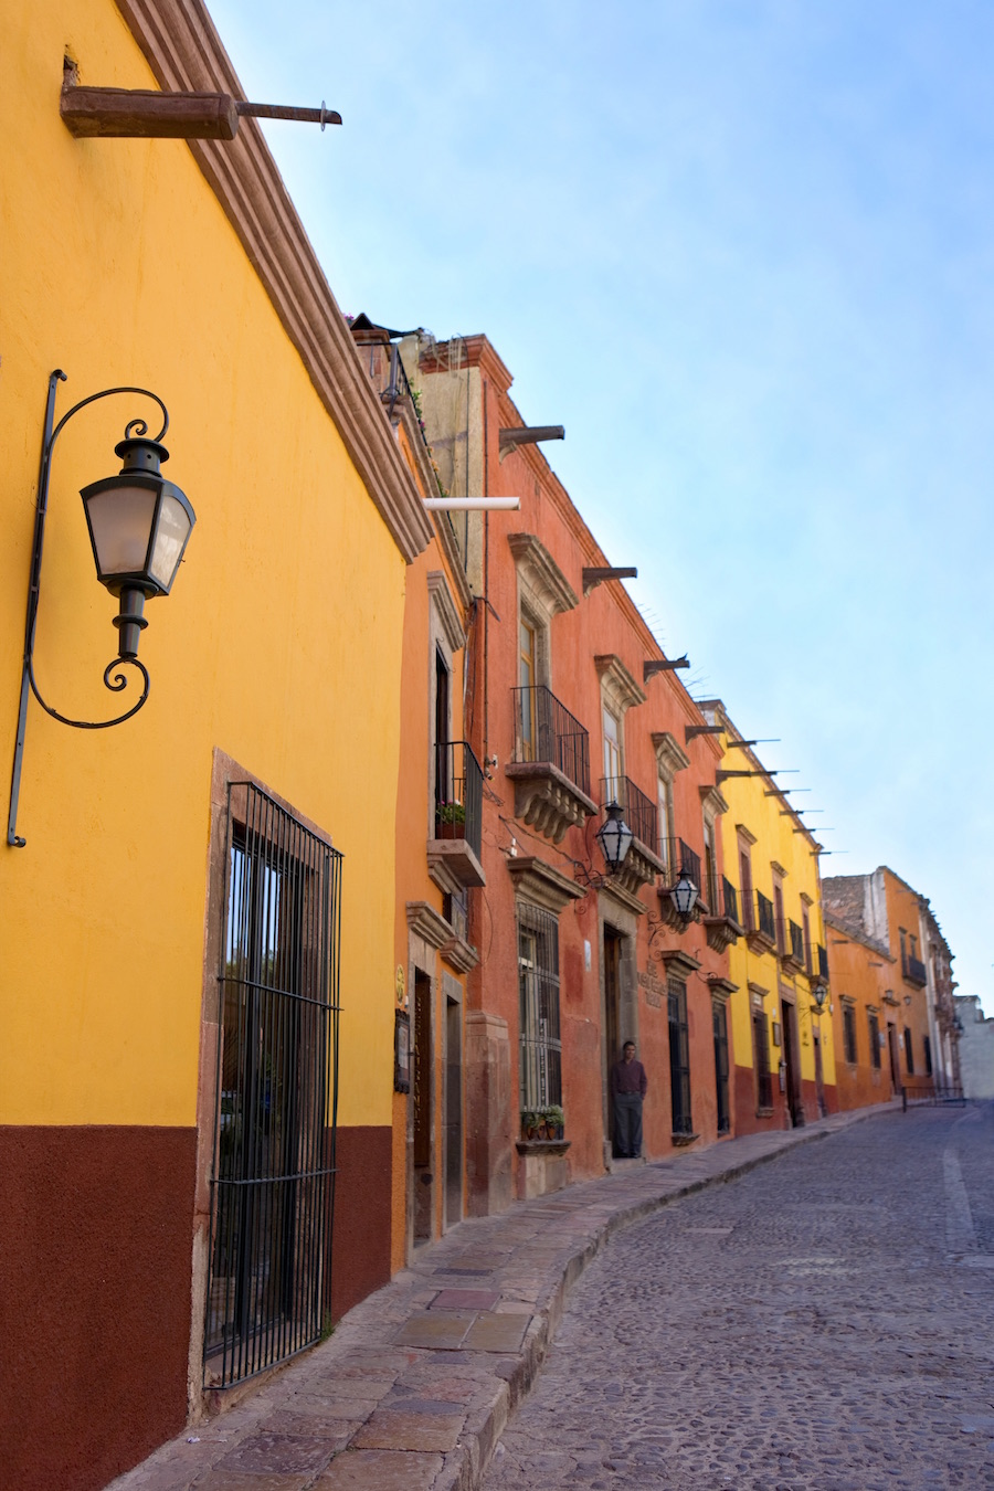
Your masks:
{"label": "ground-floor grilled window with potted plants on its sill, red-orange building", "polygon": [[559,921],[536,907],[517,908],[517,977],[522,1002],[522,1111],[562,1103],[559,1041]]}

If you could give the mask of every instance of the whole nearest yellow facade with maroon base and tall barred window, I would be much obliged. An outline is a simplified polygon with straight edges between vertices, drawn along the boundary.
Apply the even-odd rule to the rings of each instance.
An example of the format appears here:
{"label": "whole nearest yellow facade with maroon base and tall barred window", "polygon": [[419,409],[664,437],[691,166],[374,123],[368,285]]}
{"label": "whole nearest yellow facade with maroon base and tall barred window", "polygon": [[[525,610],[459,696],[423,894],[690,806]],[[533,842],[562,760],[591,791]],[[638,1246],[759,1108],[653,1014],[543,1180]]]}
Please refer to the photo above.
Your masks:
{"label": "whole nearest yellow facade with maroon base and tall barred window", "polygon": [[[148,602],[148,704],[73,729],[28,699],[0,859],[0,1440],[51,1491],[104,1485],[389,1276],[398,704],[432,529],[252,121],[60,116],[67,83],[241,97],[203,6],[7,0],[3,34],[4,762],[55,368],[55,420],[158,395],[197,514]],[[72,720],[140,692],[101,684],[116,601],[77,492],[158,417],[115,394],[52,447],[33,669]]]}

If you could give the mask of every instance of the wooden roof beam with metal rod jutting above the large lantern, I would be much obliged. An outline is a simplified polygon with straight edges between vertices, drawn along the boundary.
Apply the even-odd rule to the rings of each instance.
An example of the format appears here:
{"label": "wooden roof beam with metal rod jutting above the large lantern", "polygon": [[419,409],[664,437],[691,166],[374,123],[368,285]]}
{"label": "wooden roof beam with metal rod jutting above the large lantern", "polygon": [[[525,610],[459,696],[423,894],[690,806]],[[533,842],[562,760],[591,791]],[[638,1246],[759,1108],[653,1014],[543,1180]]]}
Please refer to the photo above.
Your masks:
{"label": "wooden roof beam with metal rod jutting above the large lantern", "polygon": [[238,119],[341,124],[334,109],[246,103],[229,94],[159,92],[153,88],[63,88],[60,113],[76,139],[234,140]]}

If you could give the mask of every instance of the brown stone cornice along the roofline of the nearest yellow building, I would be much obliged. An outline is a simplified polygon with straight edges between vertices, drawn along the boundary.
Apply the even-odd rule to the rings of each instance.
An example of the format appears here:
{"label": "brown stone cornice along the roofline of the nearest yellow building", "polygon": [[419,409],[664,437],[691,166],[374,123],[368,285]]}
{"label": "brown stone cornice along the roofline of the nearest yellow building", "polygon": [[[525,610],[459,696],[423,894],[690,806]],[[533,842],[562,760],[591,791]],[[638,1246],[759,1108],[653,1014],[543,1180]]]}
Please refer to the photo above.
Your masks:
{"label": "brown stone cornice along the roofline of the nearest yellow building", "polygon": [[[201,0],[118,0],[118,9],[159,88],[244,97]],[[429,514],[262,131],[243,118],[234,140],[186,143],[410,564],[432,537]]]}

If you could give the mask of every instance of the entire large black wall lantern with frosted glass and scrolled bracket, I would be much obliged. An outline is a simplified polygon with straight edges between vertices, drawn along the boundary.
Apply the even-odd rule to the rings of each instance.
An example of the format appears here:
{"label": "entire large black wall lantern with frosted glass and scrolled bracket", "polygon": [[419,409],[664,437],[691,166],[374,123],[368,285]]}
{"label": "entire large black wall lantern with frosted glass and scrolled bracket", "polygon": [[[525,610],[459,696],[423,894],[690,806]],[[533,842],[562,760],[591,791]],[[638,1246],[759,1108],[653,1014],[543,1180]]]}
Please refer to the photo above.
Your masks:
{"label": "entire large black wall lantern with frosted glass and scrolled bracket", "polygon": [[[168,595],[186,550],[194,523],[194,508],[173,482],[161,474],[168,450],[161,444],[168,429],[165,404],[146,388],[106,388],[100,394],[80,398],[55,425],[55,389],[66,382],[66,374],[55,370],[48,380],[48,403],[45,407],[45,432],[42,437],[42,462],[37,483],[37,507],[34,514],[34,543],[31,547],[31,574],[28,580],[27,619],[24,623],[24,663],[21,669],[21,705],[18,732],[13,747],[13,771],[10,774],[10,813],[7,817],[7,844],[24,848],[25,839],[16,833],[18,796],[21,792],[21,762],[24,757],[24,734],[27,726],[28,692],[34,695],[46,714],[61,725],[77,731],[104,731],[121,725],[137,714],[149,696],[151,678],[145,663],[139,662],[139,638],[148,626],[145,602],[156,595]],[[110,720],[70,720],[42,698],[34,677],[34,631],[42,584],[42,550],[45,544],[45,520],[48,516],[48,488],[52,470],[52,450],[60,434],[80,409],[97,400],[116,394],[140,394],[151,398],[162,410],[162,428],[153,440],[148,438],[143,419],[133,419],[124,431],[124,440],[115,446],[121,456],[118,476],[91,482],[82,488],[83,510],[89,529],[89,543],[97,565],[97,579],[112,595],[119,598],[119,611],[113,617],[118,628],[118,656],[103,672],[104,687],[121,693],[128,686],[128,675],[119,665],[137,668],[143,680],[142,696],[124,714]],[[118,671],[115,671],[118,669]]]}

